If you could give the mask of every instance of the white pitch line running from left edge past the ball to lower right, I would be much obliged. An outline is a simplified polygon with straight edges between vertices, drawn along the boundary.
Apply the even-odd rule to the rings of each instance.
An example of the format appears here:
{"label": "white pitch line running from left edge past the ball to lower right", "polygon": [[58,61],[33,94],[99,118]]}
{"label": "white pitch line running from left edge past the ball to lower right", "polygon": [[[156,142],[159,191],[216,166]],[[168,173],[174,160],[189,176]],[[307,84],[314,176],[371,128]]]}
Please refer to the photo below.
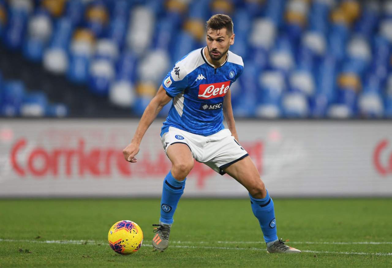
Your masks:
{"label": "white pitch line running from left edge past the ball to lower right", "polygon": [[[46,240],[46,241],[38,241],[38,240],[14,240],[14,239],[0,239],[0,242],[27,242],[27,243],[40,243],[40,244],[86,244],[87,245],[97,245],[97,244],[106,244],[106,241],[95,241],[95,240]],[[181,241],[174,241],[185,243]],[[222,241],[221,241],[222,242]],[[230,242],[230,241],[227,241]],[[152,247],[150,244],[144,244],[143,246]],[[265,251],[263,248],[227,248],[222,246],[179,246],[173,245],[171,247],[174,248],[204,248],[204,249],[222,249],[222,250],[260,250]],[[317,253],[317,254],[354,254],[354,255],[377,255],[377,256],[392,256],[392,252],[382,253],[382,252],[335,252],[335,251],[315,251],[315,250],[302,250],[302,252],[307,253]]]}

